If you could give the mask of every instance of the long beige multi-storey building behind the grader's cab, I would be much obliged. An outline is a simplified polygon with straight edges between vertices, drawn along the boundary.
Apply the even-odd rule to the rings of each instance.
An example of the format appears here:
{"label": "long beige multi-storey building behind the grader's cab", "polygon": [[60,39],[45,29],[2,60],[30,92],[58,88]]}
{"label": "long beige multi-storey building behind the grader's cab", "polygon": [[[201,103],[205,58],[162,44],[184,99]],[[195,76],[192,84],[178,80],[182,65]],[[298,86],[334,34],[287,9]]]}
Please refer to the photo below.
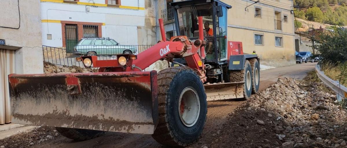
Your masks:
{"label": "long beige multi-storey building behind the grader's cab", "polygon": [[[255,50],[262,65],[295,65],[292,0],[262,0],[257,3],[251,0],[221,1],[232,6],[228,10],[229,41],[243,42],[245,53]],[[157,5],[157,18],[164,19],[167,37],[176,35],[169,2],[172,0],[158,0]],[[160,39],[159,26],[157,39]]]}

